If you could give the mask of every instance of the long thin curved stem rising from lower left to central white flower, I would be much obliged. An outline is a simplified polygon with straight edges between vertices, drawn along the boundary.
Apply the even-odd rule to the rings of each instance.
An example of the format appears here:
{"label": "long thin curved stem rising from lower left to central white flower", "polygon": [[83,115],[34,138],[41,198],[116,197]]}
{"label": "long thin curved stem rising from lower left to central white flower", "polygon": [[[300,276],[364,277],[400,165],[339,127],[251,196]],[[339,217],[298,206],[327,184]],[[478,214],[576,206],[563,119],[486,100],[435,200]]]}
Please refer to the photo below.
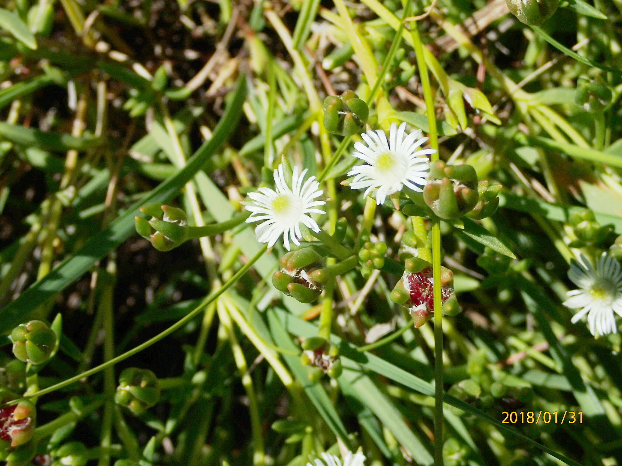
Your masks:
{"label": "long thin curved stem rising from lower left to central white flower", "polygon": [[[173,324],[172,326],[170,326],[166,330],[160,332],[155,337],[150,338],[149,340],[147,340],[146,342],[138,345],[137,347],[134,347],[131,350],[126,351],[123,354],[118,355],[117,357],[115,357],[115,358],[113,358],[113,359],[111,359],[109,361],[106,361],[103,364],[98,365],[97,367],[93,367],[92,369],[87,370],[86,372],[83,372],[81,374],[75,375],[74,377],[68,378],[67,380],[63,380],[62,382],[59,382],[59,383],[57,383],[55,385],[49,386],[47,388],[44,388],[43,390],[39,390],[39,391],[37,391],[37,393],[33,393],[30,396],[47,395],[47,393],[52,393],[52,391],[59,390],[60,388],[64,388],[67,385],[71,385],[72,383],[80,381],[83,378],[90,377],[91,375],[100,372],[100,370],[104,370],[106,367],[110,367],[110,366],[112,366],[112,365],[114,365],[114,364],[116,364],[118,362],[121,362],[121,361],[123,361],[125,359],[128,359],[129,357],[133,356],[134,354],[137,354],[137,353],[141,352],[142,350],[149,348],[152,344],[159,342],[164,337],[169,336],[174,331],[176,331],[177,329],[183,327],[187,322],[189,322],[193,318],[195,318],[195,316],[197,316],[203,310],[203,308],[205,308],[205,306],[207,306],[211,302],[215,301],[215,299],[218,298],[218,296],[220,296],[223,293],[225,293],[225,291],[228,290],[231,287],[231,285],[233,285],[236,281],[238,281],[238,279],[241,276],[243,276],[244,273],[248,272],[249,268],[253,267],[253,264],[259,260],[259,258],[264,254],[264,252],[266,252],[266,250],[267,250],[267,245],[264,245],[264,247],[262,247],[258,251],[258,253],[255,254],[251,258],[251,260],[249,260],[246,264],[244,264],[244,266],[242,268],[240,268],[238,270],[238,272],[236,272],[235,275],[233,275],[223,286],[221,286],[221,288],[218,288],[218,290],[214,291],[209,296],[207,296],[205,299],[203,299],[202,303],[200,303],[196,308],[192,309],[192,311],[190,311],[190,313],[188,313],[187,316],[185,316],[182,319],[179,319],[179,321],[175,322],[175,324]],[[24,397],[24,398],[19,398],[17,400],[13,400],[13,401],[9,401],[7,403],[2,404],[0,406],[0,408],[4,408],[5,406],[11,406],[13,404],[17,404],[20,401],[23,401],[25,398],[30,398],[30,396]]]}

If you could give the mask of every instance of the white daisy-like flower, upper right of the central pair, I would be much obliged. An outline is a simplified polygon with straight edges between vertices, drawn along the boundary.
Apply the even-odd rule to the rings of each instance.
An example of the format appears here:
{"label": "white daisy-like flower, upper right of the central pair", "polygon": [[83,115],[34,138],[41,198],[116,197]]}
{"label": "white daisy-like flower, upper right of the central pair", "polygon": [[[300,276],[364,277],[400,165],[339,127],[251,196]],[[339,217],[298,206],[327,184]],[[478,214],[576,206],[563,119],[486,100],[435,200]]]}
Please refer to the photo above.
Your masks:
{"label": "white daisy-like flower, upper right of the central pair", "polygon": [[421,137],[418,129],[404,137],[406,123],[399,128],[395,123],[389,130],[389,140],[386,133],[379,129],[361,134],[367,145],[356,142],[353,153],[369,165],[357,165],[348,172],[348,176],[354,176],[350,183],[353,190],[366,188],[365,196],[372,190],[376,191],[376,203],[384,203],[386,196],[397,193],[406,185],[413,191],[423,191],[427,181],[427,171],[430,166],[427,155],[436,152],[434,149],[417,150],[428,140]]}

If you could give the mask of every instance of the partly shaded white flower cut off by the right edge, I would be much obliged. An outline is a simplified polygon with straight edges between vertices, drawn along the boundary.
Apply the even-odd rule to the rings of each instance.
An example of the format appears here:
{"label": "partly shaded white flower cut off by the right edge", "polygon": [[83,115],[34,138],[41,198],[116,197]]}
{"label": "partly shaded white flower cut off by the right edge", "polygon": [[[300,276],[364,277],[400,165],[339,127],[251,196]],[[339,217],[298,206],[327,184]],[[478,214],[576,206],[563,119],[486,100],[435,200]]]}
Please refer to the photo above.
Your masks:
{"label": "partly shaded white flower cut off by the right edge", "polygon": [[567,293],[564,306],[581,309],[572,318],[575,323],[587,314],[590,332],[594,336],[618,332],[615,314],[622,316],[622,267],[614,257],[603,254],[596,269],[581,256],[581,262],[572,263],[568,276],[578,287]]}

